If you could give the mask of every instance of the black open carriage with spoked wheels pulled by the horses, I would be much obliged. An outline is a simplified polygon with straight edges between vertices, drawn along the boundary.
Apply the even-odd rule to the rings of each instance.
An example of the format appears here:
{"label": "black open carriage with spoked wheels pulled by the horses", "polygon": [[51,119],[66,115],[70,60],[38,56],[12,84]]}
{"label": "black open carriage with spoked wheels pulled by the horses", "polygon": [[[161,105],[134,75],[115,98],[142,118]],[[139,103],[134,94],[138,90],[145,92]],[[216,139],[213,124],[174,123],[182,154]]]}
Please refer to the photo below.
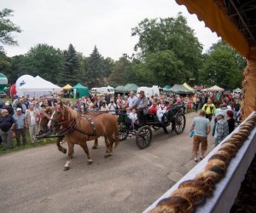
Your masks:
{"label": "black open carriage with spoked wheels pulled by the horses", "polygon": [[140,149],[150,146],[152,140],[152,129],[158,130],[163,128],[167,133],[166,127],[172,125],[177,135],[182,134],[186,124],[186,118],[183,114],[183,107],[172,107],[166,112],[160,122],[156,115],[146,114],[143,118],[143,124],[135,122],[131,126],[131,119],[126,114],[119,115],[119,141],[125,141],[128,136],[136,136],[136,144]]}

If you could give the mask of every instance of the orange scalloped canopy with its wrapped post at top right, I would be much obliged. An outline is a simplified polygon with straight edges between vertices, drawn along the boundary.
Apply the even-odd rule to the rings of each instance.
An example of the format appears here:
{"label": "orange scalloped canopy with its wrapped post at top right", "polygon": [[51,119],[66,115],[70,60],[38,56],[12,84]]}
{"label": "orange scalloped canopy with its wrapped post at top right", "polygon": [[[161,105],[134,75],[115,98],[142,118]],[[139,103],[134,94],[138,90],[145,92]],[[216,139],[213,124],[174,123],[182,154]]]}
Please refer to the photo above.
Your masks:
{"label": "orange scalloped canopy with its wrapped post at top right", "polygon": [[[248,1],[176,0],[197,14],[212,32],[247,59],[242,86],[245,90],[243,112],[246,118],[256,108],[256,7]],[[232,12],[230,12],[232,11]]]}

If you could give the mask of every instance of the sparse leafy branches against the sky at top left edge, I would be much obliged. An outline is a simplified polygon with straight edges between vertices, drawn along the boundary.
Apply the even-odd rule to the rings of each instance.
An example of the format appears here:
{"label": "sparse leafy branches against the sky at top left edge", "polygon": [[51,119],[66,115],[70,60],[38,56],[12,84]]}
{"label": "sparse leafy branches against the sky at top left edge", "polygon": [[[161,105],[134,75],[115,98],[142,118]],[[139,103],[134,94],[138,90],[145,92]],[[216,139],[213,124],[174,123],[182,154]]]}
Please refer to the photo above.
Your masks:
{"label": "sparse leafy branches against the sky at top left edge", "polygon": [[[13,16],[14,11],[11,9],[3,9],[0,11],[0,43],[7,45],[15,45],[17,42],[11,36],[12,32],[21,32],[20,26],[15,26],[15,24],[9,20],[9,16]],[[0,46],[3,49],[3,46]]]}

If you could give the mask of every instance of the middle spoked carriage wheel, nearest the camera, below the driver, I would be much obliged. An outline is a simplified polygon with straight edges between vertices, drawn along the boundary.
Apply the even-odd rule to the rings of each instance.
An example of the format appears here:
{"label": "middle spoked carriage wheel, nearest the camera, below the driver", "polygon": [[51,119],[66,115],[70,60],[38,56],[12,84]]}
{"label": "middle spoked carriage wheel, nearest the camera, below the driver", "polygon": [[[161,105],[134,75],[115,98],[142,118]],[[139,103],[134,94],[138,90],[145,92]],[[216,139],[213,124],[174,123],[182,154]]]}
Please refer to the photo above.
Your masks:
{"label": "middle spoked carriage wheel, nearest the camera, below the driver", "polygon": [[136,144],[140,149],[150,146],[152,139],[152,130],[149,126],[143,126],[137,130]]}

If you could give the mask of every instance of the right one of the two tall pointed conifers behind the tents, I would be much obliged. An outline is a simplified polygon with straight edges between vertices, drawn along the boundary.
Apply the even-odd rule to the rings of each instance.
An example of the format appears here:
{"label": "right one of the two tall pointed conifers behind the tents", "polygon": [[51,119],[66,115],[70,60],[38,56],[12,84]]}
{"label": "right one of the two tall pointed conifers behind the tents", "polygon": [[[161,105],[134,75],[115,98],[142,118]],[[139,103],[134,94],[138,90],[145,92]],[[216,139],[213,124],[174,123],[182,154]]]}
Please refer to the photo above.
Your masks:
{"label": "right one of the two tall pointed conifers behind the tents", "polygon": [[95,46],[87,61],[86,85],[93,88],[100,87],[103,84],[102,55],[99,54]]}

